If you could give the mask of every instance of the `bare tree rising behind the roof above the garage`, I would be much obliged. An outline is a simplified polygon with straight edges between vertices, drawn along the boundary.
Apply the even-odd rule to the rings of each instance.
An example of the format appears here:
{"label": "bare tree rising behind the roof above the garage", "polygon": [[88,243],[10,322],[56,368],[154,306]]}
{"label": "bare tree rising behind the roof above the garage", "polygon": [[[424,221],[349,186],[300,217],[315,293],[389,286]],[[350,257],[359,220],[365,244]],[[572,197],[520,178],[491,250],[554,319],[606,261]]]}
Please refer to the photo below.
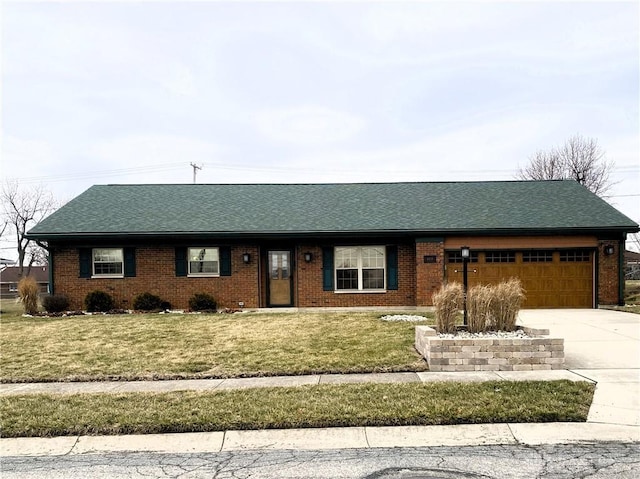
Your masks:
{"label": "bare tree rising behind the roof above the garage", "polygon": [[516,177],[521,180],[574,179],[598,196],[606,196],[613,186],[611,172],[614,163],[607,161],[595,138],[576,134],[564,145],[551,150],[538,150],[529,164],[520,168]]}

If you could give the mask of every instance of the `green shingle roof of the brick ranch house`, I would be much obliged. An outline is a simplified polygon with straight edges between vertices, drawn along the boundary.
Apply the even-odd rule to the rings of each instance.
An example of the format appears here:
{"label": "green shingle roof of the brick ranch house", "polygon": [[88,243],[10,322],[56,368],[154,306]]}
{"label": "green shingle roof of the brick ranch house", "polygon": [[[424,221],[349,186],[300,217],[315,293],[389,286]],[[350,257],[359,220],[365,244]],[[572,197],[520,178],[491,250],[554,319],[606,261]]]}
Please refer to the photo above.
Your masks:
{"label": "green shingle roof of the brick ranch house", "polygon": [[93,186],[29,236],[637,229],[574,181],[159,184]]}

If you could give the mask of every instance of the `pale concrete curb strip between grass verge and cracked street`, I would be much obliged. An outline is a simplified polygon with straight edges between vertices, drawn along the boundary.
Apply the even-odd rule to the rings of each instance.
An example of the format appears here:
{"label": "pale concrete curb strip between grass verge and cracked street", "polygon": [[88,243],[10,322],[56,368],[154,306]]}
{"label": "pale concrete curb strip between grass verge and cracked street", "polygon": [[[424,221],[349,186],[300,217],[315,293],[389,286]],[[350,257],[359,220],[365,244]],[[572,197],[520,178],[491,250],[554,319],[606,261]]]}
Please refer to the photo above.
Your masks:
{"label": "pale concrete curb strip between grass verge and cracked street", "polygon": [[0,457],[104,453],[197,454],[499,444],[640,443],[640,427],[598,423],[461,424],[275,429],[128,436],[2,438]]}

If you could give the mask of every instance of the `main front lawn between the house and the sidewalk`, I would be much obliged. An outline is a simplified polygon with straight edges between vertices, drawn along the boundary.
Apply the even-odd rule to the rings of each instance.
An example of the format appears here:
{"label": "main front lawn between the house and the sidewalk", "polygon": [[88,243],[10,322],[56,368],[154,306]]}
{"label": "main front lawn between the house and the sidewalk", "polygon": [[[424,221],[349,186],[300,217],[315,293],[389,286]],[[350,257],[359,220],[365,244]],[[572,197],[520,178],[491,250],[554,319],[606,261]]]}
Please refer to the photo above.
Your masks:
{"label": "main front lawn between the house and the sidewalk", "polygon": [[415,323],[381,321],[383,313],[28,318],[6,306],[0,322],[4,382],[427,369],[413,347]]}

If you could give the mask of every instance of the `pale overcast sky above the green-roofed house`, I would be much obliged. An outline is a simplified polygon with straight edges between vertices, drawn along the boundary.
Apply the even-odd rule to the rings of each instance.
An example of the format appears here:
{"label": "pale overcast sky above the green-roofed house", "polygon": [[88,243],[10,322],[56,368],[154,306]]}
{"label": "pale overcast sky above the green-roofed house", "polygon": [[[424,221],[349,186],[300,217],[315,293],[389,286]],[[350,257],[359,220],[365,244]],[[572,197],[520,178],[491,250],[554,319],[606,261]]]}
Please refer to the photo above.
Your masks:
{"label": "pale overcast sky above the green-roofed house", "polygon": [[607,201],[640,222],[637,1],[5,0],[0,14],[2,177],[60,203],[194,171],[512,180],[581,134],[615,162]]}

